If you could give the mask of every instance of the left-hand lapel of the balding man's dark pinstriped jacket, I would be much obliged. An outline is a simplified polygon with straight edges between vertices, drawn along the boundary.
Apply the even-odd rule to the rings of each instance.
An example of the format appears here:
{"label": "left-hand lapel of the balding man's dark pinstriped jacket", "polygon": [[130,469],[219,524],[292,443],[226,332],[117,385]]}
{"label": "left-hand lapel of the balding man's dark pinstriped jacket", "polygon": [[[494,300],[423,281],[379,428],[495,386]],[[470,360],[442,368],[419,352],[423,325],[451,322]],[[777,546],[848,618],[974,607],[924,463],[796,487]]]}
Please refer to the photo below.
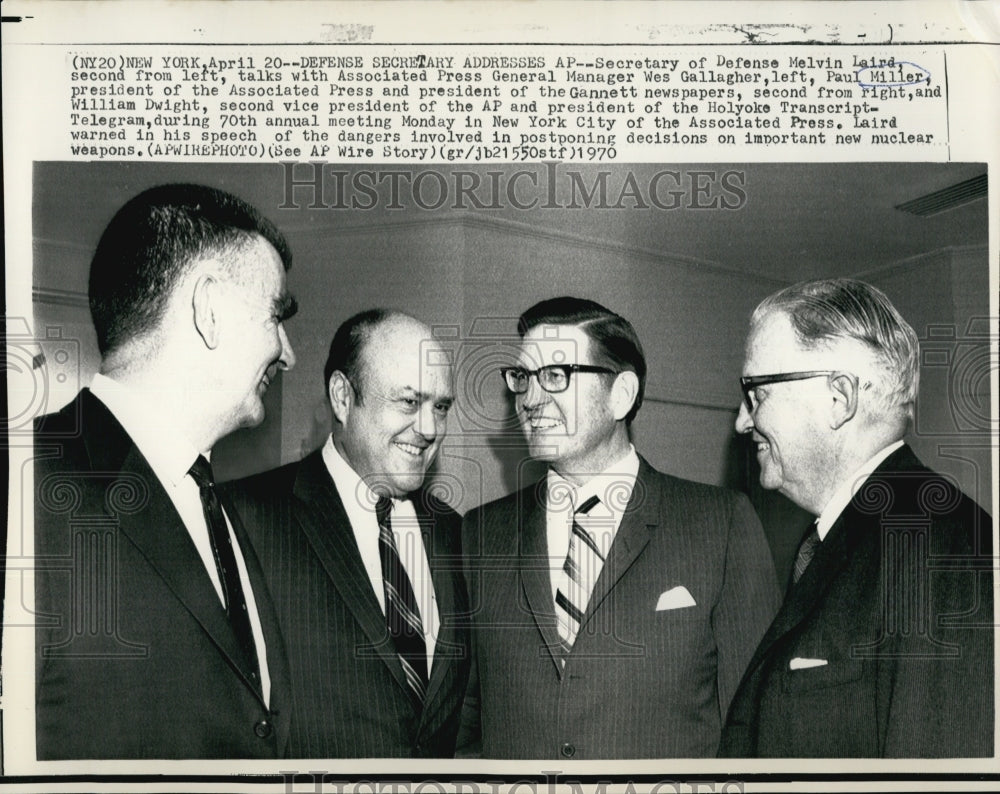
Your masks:
{"label": "left-hand lapel of the balding man's dark pinstriped jacket", "polygon": [[294,494],[300,504],[296,520],[316,551],[340,597],[371,642],[360,653],[376,654],[389,667],[401,687],[409,692],[396,647],[386,629],[371,580],[358,551],[351,522],[320,451],[302,461],[295,478]]}

